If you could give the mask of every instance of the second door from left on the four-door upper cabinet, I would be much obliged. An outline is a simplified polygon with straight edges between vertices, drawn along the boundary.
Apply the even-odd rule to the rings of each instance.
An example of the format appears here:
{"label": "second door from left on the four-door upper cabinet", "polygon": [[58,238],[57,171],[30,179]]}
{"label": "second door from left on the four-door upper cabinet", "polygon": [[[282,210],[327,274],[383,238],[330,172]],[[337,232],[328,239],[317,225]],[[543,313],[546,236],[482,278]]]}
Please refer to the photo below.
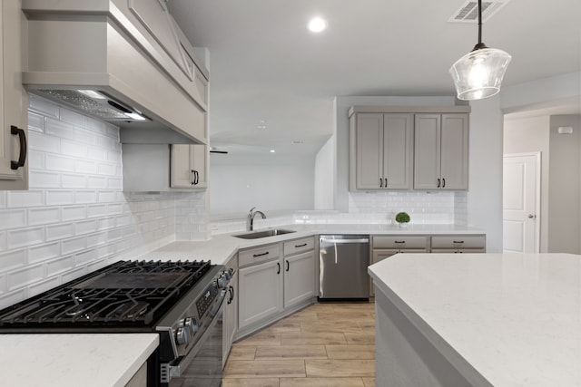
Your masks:
{"label": "second door from left on the four-door upper cabinet", "polygon": [[412,115],[383,116],[383,187],[409,189],[411,186]]}

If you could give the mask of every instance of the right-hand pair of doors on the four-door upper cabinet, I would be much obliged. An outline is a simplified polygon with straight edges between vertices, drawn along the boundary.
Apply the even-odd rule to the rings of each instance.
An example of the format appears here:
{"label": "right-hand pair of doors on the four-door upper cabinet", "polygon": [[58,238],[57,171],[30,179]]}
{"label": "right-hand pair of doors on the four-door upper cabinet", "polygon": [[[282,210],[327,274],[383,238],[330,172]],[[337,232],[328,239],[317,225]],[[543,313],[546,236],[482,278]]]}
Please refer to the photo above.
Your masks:
{"label": "right-hand pair of doors on the four-door upper cabinet", "polygon": [[468,114],[416,114],[414,189],[468,189]]}

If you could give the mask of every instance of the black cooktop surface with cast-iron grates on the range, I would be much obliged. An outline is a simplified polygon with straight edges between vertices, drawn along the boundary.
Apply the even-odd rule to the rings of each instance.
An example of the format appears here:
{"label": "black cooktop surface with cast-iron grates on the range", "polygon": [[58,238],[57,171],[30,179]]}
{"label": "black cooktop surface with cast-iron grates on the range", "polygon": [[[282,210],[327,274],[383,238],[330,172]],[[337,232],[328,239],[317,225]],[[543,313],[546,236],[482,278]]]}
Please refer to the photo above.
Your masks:
{"label": "black cooktop surface with cast-iron grates on the range", "polygon": [[211,267],[209,261],[120,261],[0,311],[0,328],[151,326]]}

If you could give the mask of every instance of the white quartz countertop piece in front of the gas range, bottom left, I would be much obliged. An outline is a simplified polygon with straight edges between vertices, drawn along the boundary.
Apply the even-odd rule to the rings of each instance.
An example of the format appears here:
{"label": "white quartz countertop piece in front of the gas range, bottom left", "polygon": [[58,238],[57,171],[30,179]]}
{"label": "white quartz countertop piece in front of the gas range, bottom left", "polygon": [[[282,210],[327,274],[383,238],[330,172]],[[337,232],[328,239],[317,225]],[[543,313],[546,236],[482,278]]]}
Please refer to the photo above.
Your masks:
{"label": "white quartz countertop piece in front of the gas range, bottom left", "polygon": [[0,334],[0,385],[123,387],[159,334]]}

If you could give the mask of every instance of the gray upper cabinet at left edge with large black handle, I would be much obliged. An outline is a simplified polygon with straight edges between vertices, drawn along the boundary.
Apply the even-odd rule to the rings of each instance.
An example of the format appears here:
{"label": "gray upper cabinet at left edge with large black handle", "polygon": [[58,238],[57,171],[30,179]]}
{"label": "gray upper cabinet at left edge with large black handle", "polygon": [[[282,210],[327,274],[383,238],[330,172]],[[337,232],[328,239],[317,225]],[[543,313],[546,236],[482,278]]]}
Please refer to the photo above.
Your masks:
{"label": "gray upper cabinet at left edge with large black handle", "polygon": [[23,24],[20,1],[0,4],[0,190],[28,189],[28,94],[22,85]]}

